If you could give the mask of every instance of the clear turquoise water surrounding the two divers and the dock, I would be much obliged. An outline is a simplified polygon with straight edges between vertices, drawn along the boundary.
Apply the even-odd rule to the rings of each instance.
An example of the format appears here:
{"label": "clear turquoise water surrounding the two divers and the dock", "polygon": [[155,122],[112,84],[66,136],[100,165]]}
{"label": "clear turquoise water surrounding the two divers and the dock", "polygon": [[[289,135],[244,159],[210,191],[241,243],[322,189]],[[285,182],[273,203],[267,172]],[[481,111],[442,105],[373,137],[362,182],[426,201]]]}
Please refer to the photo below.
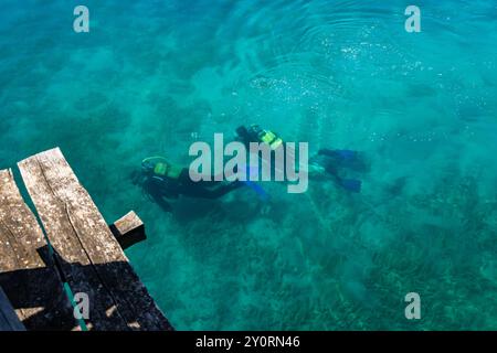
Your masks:
{"label": "clear turquoise water surrounding the two divers and the dock", "polygon": [[[60,146],[180,330],[497,329],[497,4],[416,1],[2,1],[1,168]],[[357,149],[350,195],[265,185],[167,214],[127,174],[260,122]],[[404,318],[421,295],[422,320]]]}

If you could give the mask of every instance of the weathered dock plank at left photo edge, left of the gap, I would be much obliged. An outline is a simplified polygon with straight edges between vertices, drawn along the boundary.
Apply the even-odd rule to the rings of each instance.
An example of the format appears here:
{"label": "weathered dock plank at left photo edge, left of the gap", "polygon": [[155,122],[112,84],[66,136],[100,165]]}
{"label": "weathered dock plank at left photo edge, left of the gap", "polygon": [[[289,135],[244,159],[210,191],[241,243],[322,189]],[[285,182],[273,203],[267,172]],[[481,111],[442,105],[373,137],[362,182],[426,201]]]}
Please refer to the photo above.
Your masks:
{"label": "weathered dock plank at left photo edge, left of the gap", "polygon": [[0,171],[0,286],[29,330],[72,328],[75,320],[56,269],[41,257],[45,248],[11,170]]}

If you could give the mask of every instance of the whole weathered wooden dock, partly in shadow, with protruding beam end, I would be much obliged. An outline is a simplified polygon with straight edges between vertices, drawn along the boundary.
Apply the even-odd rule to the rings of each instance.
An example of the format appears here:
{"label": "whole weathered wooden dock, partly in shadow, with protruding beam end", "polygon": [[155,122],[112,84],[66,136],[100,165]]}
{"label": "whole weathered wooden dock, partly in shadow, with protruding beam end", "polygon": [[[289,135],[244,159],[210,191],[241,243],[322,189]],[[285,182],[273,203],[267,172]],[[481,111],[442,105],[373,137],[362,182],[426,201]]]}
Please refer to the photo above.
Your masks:
{"label": "whole weathered wooden dock, partly in shadow, with protruding beam end", "polygon": [[[110,231],[59,148],[18,167],[38,217],[24,202],[12,170],[1,170],[0,287],[23,327],[173,330],[116,238],[116,229],[142,234],[138,216],[128,214]],[[120,236],[127,246],[135,243]],[[83,321],[74,313],[76,293],[89,301],[89,318]],[[15,322],[10,325],[22,329]]]}

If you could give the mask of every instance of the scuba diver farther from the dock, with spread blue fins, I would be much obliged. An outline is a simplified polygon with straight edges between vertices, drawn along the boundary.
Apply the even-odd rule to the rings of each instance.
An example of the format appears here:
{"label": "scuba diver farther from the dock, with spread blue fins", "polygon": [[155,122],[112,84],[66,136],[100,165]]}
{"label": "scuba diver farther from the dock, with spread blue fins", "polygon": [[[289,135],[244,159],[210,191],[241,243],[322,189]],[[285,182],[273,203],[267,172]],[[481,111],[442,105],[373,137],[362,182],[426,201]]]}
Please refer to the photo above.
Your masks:
{"label": "scuba diver farther from the dock, with spread blue fins", "polygon": [[[258,125],[252,125],[248,128],[239,127],[236,140],[243,142],[247,148],[250,142],[263,142],[268,145],[272,150],[276,150],[285,143],[275,132],[262,129]],[[360,192],[361,181],[340,176],[340,169],[364,171],[366,167],[360,160],[359,153],[351,150],[320,149],[317,154],[309,158],[309,179],[332,178],[345,190]]]}

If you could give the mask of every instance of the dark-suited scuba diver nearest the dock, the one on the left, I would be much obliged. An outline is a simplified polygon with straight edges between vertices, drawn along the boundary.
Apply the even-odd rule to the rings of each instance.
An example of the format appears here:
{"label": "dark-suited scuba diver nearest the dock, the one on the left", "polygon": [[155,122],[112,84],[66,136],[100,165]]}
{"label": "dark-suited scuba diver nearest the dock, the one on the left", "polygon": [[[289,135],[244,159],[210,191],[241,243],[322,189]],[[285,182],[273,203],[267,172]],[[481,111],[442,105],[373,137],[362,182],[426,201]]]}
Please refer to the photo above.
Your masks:
{"label": "dark-suited scuba diver nearest the dock, the one on the left", "polygon": [[131,179],[135,185],[139,184],[166,211],[171,210],[166,199],[178,199],[179,195],[218,199],[244,185],[240,181],[192,181],[187,167],[173,164],[163,157],[144,159],[141,171],[135,171]]}

